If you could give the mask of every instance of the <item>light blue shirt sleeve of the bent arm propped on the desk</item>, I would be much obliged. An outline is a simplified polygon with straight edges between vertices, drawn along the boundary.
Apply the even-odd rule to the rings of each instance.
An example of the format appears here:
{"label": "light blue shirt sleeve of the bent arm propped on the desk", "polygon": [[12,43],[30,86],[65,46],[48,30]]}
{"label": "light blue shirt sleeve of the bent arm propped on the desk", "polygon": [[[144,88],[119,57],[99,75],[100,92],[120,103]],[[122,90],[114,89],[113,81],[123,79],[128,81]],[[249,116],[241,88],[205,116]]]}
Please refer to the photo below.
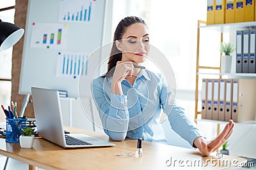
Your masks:
{"label": "light blue shirt sleeve of the bent arm propped on the desk", "polygon": [[104,94],[103,84],[99,80],[93,80],[92,92],[102,127],[113,141],[122,141],[126,137],[129,124],[127,96],[111,93],[108,96],[106,92]]}

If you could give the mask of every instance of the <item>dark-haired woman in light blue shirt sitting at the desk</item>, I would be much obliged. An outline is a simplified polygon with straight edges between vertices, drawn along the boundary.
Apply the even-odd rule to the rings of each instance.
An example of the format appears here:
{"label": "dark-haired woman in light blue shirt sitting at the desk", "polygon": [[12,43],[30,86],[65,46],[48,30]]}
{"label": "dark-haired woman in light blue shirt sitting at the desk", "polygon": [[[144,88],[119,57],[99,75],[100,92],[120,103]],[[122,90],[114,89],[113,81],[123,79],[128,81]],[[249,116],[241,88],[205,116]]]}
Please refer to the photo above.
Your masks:
{"label": "dark-haired woman in light blue shirt sitting at the desk", "polygon": [[[145,62],[149,34],[139,17],[126,17],[116,27],[108,72],[92,83],[104,131],[114,141],[125,138],[166,143],[160,124],[161,108],[172,129],[208,156],[232,134],[234,122],[212,141],[205,141],[184,109],[173,104],[172,93],[161,74],[141,69]],[[138,67],[139,66],[139,67]]]}

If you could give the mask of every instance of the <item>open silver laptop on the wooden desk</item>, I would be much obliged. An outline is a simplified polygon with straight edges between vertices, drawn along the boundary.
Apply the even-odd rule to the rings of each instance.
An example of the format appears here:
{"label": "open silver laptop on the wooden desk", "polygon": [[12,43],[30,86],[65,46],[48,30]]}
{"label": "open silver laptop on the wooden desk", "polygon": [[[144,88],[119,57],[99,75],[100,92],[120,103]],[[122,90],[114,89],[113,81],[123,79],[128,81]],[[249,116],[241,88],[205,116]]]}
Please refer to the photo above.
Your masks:
{"label": "open silver laptop on the wooden desk", "polygon": [[64,148],[115,146],[86,134],[65,134],[58,90],[31,87],[38,135]]}

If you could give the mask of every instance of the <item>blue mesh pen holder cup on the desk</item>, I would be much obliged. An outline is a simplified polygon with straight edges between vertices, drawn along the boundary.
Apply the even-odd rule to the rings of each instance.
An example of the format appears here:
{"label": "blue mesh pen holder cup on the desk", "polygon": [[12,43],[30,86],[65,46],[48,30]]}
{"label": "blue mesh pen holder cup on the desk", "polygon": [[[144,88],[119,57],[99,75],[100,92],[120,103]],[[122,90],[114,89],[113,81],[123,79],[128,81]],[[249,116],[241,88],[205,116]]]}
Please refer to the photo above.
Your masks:
{"label": "blue mesh pen holder cup on the desk", "polygon": [[28,118],[6,118],[6,138],[8,143],[19,143],[21,129],[26,127]]}

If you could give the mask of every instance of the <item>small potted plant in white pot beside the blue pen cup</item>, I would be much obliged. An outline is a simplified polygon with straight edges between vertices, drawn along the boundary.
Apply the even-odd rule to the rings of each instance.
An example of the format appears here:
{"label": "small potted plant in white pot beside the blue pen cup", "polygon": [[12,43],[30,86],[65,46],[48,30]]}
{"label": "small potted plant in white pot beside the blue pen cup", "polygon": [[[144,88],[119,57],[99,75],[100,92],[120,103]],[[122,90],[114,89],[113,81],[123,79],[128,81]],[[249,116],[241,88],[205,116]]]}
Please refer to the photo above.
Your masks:
{"label": "small potted plant in white pot beside the blue pen cup", "polygon": [[35,137],[35,129],[31,127],[25,127],[21,129],[22,135],[20,135],[20,147],[32,148]]}

